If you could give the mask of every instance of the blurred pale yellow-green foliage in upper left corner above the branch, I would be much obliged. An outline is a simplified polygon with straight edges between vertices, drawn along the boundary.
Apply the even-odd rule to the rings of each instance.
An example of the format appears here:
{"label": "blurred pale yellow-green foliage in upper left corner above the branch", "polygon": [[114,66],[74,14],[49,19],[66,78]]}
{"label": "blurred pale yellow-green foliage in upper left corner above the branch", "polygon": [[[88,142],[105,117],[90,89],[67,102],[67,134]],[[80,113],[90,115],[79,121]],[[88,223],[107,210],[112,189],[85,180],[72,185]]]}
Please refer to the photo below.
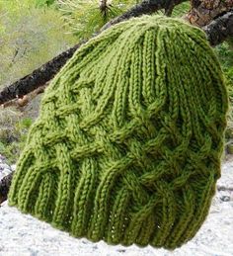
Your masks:
{"label": "blurred pale yellow-green foliage in upper left corner above the branch", "polygon": [[59,12],[36,0],[0,0],[0,87],[31,73],[74,44]]}

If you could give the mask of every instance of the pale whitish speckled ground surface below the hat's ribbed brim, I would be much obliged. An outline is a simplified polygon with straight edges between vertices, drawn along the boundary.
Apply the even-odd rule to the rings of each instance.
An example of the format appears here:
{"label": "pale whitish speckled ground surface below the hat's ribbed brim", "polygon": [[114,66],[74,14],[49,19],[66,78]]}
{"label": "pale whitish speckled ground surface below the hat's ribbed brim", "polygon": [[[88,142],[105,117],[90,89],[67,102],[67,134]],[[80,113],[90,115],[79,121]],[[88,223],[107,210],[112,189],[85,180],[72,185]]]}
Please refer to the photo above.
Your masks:
{"label": "pale whitish speckled ground surface below the hat's ribbed brim", "polygon": [[207,219],[192,241],[169,252],[152,247],[109,246],[75,239],[30,215],[0,208],[0,256],[232,256],[233,161],[222,167],[218,192]]}

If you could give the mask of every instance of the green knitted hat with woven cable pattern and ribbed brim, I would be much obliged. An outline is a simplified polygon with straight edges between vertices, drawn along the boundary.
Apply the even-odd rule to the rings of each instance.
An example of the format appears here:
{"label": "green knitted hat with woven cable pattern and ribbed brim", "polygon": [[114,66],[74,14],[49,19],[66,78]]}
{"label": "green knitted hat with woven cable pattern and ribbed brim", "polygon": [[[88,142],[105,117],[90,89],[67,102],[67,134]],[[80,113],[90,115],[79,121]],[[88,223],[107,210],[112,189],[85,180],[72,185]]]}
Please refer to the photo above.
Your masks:
{"label": "green knitted hat with woven cable pattern and ribbed brim", "polygon": [[200,30],[160,16],[118,24],[46,89],[9,204],[75,237],[179,247],[208,213],[226,111]]}

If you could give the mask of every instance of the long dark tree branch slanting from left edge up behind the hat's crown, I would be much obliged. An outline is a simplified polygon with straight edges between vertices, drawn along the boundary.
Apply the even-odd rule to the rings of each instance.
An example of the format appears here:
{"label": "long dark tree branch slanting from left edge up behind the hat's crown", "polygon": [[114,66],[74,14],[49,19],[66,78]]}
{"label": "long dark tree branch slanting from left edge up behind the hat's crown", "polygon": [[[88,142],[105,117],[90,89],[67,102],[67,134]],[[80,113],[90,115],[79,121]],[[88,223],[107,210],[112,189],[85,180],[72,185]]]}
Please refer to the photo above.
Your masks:
{"label": "long dark tree branch slanting from left edge up behind the hat's crown", "polygon": [[[100,32],[98,32],[94,37],[99,35],[102,31],[108,29],[116,23],[120,23],[131,17],[138,17],[143,14],[151,14],[160,9],[165,9],[169,6],[169,3],[173,2],[174,5],[178,5],[187,0],[144,0],[141,4],[137,4],[128,10],[123,15],[117,17],[112,22],[105,25]],[[66,61],[74,54],[75,50],[78,49],[83,43],[81,42],[67,49],[58,56],[54,57],[50,61],[46,62],[38,69],[36,69],[32,74],[29,74],[22,79],[16,81],[15,83],[5,87],[0,92],[0,105],[9,102],[15,98],[22,98],[26,94],[34,91],[39,86],[45,84],[47,81],[51,80],[60,68],[66,63]]]}

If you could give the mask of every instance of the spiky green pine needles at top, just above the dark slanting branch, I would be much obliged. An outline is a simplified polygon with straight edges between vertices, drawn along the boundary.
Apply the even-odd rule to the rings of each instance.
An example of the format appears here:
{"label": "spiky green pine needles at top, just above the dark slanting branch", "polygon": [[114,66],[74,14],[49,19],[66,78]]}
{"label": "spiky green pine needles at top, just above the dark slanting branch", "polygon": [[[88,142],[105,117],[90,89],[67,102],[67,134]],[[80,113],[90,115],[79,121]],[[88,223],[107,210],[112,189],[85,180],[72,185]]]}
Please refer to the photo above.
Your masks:
{"label": "spiky green pine needles at top, just above the dark slanting branch", "polygon": [[59,10],[70,27],[70,33],[79,40],[89,39],[107,22],[125,12],[136,0],[107,1],[107,9],[100,10],[99,0],[58,0]]}

